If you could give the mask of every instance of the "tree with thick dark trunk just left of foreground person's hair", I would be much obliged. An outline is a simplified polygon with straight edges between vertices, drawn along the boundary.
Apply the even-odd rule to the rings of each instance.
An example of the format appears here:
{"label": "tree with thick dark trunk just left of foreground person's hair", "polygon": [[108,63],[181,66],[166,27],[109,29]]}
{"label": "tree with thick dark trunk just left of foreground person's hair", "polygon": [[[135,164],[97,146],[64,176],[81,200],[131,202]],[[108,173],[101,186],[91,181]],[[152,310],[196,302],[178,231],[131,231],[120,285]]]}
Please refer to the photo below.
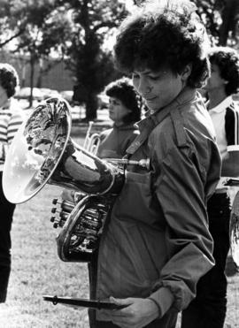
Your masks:
{"label": "tree with thick dark trunk just left of foreground person's hair", "polygon": [[125,4],[112,0],[58,0],[71,13],[73,30],[66,47],[67,65],[86,104],[86,120],[96,118],[97,98],[105,83],[116,76],[112,55],[104,49],[107,35],[126,14]]}

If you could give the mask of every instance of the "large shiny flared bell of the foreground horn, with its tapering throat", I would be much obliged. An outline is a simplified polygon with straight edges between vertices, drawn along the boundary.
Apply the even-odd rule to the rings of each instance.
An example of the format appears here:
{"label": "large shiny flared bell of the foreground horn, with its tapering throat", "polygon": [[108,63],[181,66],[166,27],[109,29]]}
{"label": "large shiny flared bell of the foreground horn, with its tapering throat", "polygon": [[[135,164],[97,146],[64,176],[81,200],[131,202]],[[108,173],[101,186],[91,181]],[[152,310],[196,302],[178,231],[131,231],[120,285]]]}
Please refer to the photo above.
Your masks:
{"label": "large shiny flared bell of the foreground horn, with its tapering throat", "polygon": [[124,174],[70,138],[70,105],[63,98],[39,104],[15,134],[3,172],[4,195],[26,202],[48,182],[90,195],[119,192]]}

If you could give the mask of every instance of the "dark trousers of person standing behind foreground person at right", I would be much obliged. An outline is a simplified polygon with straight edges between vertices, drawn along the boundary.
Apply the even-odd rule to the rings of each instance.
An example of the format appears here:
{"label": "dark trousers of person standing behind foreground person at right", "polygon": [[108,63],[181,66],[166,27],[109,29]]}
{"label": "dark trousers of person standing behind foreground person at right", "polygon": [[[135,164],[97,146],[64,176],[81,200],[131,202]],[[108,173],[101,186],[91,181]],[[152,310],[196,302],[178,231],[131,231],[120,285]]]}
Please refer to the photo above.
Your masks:
{"label": "dark trousers of person standing behind foreground person at right", "polygon": [[230,198],[226,193],[214,194],[208,202],[216,264],[198,281],[196,299],[182,312],[181,328],[223,328],[227,312],[225,267],[230,247],[230,211]]}

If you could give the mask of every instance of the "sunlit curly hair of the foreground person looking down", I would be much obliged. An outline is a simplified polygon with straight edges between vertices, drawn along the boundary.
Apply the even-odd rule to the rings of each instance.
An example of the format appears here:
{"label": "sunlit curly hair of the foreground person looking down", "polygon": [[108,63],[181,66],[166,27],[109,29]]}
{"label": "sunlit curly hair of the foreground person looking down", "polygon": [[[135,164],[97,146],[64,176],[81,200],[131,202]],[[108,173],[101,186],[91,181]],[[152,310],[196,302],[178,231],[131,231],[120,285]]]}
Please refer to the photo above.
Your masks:
{"label": "sunlit curly hair of the foreground person looking down", "polygon": [[188,85],[201,88],[209,75],[205,55],[209,39],[188,0],[148,1],[122,21],[114,46],[117,68],[131,73],[135,69],[152,71],[168,67],[173,73],[191,65]]}

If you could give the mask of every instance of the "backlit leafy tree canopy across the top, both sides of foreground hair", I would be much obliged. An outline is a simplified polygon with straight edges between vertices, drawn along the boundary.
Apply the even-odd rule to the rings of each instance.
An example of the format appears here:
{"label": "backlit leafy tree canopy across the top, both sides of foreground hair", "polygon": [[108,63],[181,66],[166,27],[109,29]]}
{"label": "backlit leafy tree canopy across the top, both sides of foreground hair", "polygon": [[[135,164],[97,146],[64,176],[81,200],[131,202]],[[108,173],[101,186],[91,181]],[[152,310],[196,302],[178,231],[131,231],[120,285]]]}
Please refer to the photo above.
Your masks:
{"label": "backlit leafy tree canopy across the top, both sides of foreground hair", "polygon": [[[239,1],[194,2],[212,44],[237,48]],[[108,82],[120,77],[120,72],[114,69],[111,50],[104,44],[127,14],[128,3],[128,0],[1,0],[0,48],[13,44],[11,51],[28,57],[31,87],[35,65],[42,59],[55,54],[59,61],[65,60],[79,90],[79,100],[86,103],[87,120],[94,119],[96,95]],[[40,68],[43,73],[49,65]]]}

